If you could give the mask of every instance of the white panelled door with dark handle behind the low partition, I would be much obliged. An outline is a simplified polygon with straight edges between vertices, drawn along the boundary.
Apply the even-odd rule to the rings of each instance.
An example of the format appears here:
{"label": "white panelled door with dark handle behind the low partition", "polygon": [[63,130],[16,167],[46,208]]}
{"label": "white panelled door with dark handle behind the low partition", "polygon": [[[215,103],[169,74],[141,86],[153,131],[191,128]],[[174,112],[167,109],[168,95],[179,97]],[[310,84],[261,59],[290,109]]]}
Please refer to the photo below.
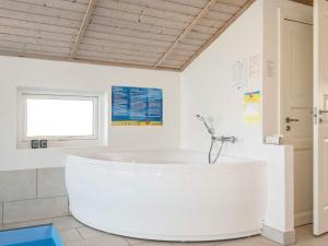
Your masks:
{"label": "white panelled door with dark handle behind the low partition", "polygon": [[313,25],[281,21],[281,132],[294,147],[295,226],[313,221]]}

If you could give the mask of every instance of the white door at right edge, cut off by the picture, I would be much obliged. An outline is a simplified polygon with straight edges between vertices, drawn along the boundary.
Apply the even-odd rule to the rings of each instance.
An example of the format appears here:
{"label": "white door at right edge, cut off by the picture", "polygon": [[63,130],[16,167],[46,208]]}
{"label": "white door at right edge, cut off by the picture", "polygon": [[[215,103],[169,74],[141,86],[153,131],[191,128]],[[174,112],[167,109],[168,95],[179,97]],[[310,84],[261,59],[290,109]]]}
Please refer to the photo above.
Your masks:
{"label": "white door at right edge, cut off by the picture", "polygon": [[328,232],[328,1],[315,0],[314,234]]}

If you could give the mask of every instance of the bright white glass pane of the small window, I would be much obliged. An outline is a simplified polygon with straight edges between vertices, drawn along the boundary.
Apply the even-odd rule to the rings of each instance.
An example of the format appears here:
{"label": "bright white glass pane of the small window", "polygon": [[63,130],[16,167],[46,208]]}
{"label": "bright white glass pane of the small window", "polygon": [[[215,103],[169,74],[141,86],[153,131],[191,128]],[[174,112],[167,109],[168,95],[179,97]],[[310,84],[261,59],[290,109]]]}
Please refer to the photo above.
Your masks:
{"label": "bright white glass pane of the small window", "polygon": [[92,136],[93,101],[26,99],[27,137]]}

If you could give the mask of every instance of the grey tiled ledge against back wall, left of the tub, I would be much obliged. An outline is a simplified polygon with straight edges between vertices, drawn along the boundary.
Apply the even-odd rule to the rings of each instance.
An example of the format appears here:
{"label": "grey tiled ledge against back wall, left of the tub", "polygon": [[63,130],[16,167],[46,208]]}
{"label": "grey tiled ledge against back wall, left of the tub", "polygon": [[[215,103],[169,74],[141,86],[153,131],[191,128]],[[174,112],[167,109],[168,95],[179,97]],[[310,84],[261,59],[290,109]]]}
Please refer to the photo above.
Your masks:
{"label": "grey tiled ledge against back wall, left of the tub", "polygon": [[69,213],[65,167],[1,171],[0,187],[0,227]]}

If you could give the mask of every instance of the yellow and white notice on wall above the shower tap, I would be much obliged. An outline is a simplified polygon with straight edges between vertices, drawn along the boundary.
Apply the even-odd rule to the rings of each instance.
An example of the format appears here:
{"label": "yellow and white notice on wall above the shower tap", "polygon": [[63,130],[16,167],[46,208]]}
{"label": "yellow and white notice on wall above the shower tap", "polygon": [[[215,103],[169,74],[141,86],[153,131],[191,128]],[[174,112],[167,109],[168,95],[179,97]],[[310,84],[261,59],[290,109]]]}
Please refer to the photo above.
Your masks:
{"label": "yellow and white notice on wall above the shower tap", "polygon": [[257,124],[261,116],[260,92],[247,92],[244,94],[244,122]]}

